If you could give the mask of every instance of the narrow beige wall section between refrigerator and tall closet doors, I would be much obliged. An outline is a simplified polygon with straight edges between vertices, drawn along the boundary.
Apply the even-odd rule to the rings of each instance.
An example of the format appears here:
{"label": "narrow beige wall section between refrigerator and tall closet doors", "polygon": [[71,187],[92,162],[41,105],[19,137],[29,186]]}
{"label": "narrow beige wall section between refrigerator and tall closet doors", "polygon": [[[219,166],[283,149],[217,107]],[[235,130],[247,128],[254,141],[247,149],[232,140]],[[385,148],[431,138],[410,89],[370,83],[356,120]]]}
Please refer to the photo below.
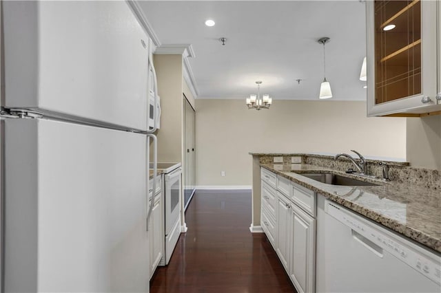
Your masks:
{"label": "narrow beige wall section between refrigerator and tall closet doors", "polygon": [[158,162],[182,162],[183,80],[181,55],[154,55],[161,96]]}

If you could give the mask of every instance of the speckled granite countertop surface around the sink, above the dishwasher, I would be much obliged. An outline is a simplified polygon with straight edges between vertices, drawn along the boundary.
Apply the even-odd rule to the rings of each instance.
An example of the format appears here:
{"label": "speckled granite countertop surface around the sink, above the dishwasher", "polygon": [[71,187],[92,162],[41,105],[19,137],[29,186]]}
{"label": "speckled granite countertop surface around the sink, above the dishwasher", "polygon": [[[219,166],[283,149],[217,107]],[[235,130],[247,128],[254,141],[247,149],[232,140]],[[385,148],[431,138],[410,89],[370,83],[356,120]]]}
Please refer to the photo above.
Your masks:
{"label": "speckled granite countertop surface around the sink, above the dishwasher", "polygon": [[[372,180],[309,164],[260,164],[260,166],[441,252],[440,191],[413,184]],[[322,171],[372,182],[378,186],[338,186],[301,175]]]}

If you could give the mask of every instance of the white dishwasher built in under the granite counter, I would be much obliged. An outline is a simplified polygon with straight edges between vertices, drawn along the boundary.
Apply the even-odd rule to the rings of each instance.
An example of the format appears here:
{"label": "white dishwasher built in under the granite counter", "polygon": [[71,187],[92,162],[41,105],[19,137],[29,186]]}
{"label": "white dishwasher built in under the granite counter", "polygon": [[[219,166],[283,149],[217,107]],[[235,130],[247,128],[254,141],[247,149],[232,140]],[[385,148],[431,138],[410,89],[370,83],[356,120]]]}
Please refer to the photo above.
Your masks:
{"label": "white dishwasher built in under the granite counter", "polygon": [[440,254],[322,196],[318,208],[316,292],[441,292]]}

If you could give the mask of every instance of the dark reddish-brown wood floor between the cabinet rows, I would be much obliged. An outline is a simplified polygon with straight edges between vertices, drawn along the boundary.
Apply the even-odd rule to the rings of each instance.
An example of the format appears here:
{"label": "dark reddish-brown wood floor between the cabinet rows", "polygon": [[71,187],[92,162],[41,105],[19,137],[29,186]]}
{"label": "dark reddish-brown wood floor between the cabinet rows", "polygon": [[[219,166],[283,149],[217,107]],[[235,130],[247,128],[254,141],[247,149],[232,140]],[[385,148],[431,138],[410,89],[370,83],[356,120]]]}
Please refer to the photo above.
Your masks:
{"label": "dark reddish-brown wood floor between the cabinet rows", "polygon": [[249,232],[249,191],[196,192],[167,267],[150,292],[296,292],[263,233]]}

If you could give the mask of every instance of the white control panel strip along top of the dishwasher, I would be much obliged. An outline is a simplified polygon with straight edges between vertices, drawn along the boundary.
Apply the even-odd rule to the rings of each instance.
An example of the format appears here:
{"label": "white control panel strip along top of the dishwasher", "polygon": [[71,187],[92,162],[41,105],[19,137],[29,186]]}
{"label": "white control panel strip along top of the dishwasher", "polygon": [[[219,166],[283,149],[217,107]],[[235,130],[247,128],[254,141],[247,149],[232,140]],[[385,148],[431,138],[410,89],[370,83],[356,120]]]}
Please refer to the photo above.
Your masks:
{"label": "white control panel strip along top of the dishwasher", "polygon": [[329,200],[325,212],[441,285],[441,257]]}

